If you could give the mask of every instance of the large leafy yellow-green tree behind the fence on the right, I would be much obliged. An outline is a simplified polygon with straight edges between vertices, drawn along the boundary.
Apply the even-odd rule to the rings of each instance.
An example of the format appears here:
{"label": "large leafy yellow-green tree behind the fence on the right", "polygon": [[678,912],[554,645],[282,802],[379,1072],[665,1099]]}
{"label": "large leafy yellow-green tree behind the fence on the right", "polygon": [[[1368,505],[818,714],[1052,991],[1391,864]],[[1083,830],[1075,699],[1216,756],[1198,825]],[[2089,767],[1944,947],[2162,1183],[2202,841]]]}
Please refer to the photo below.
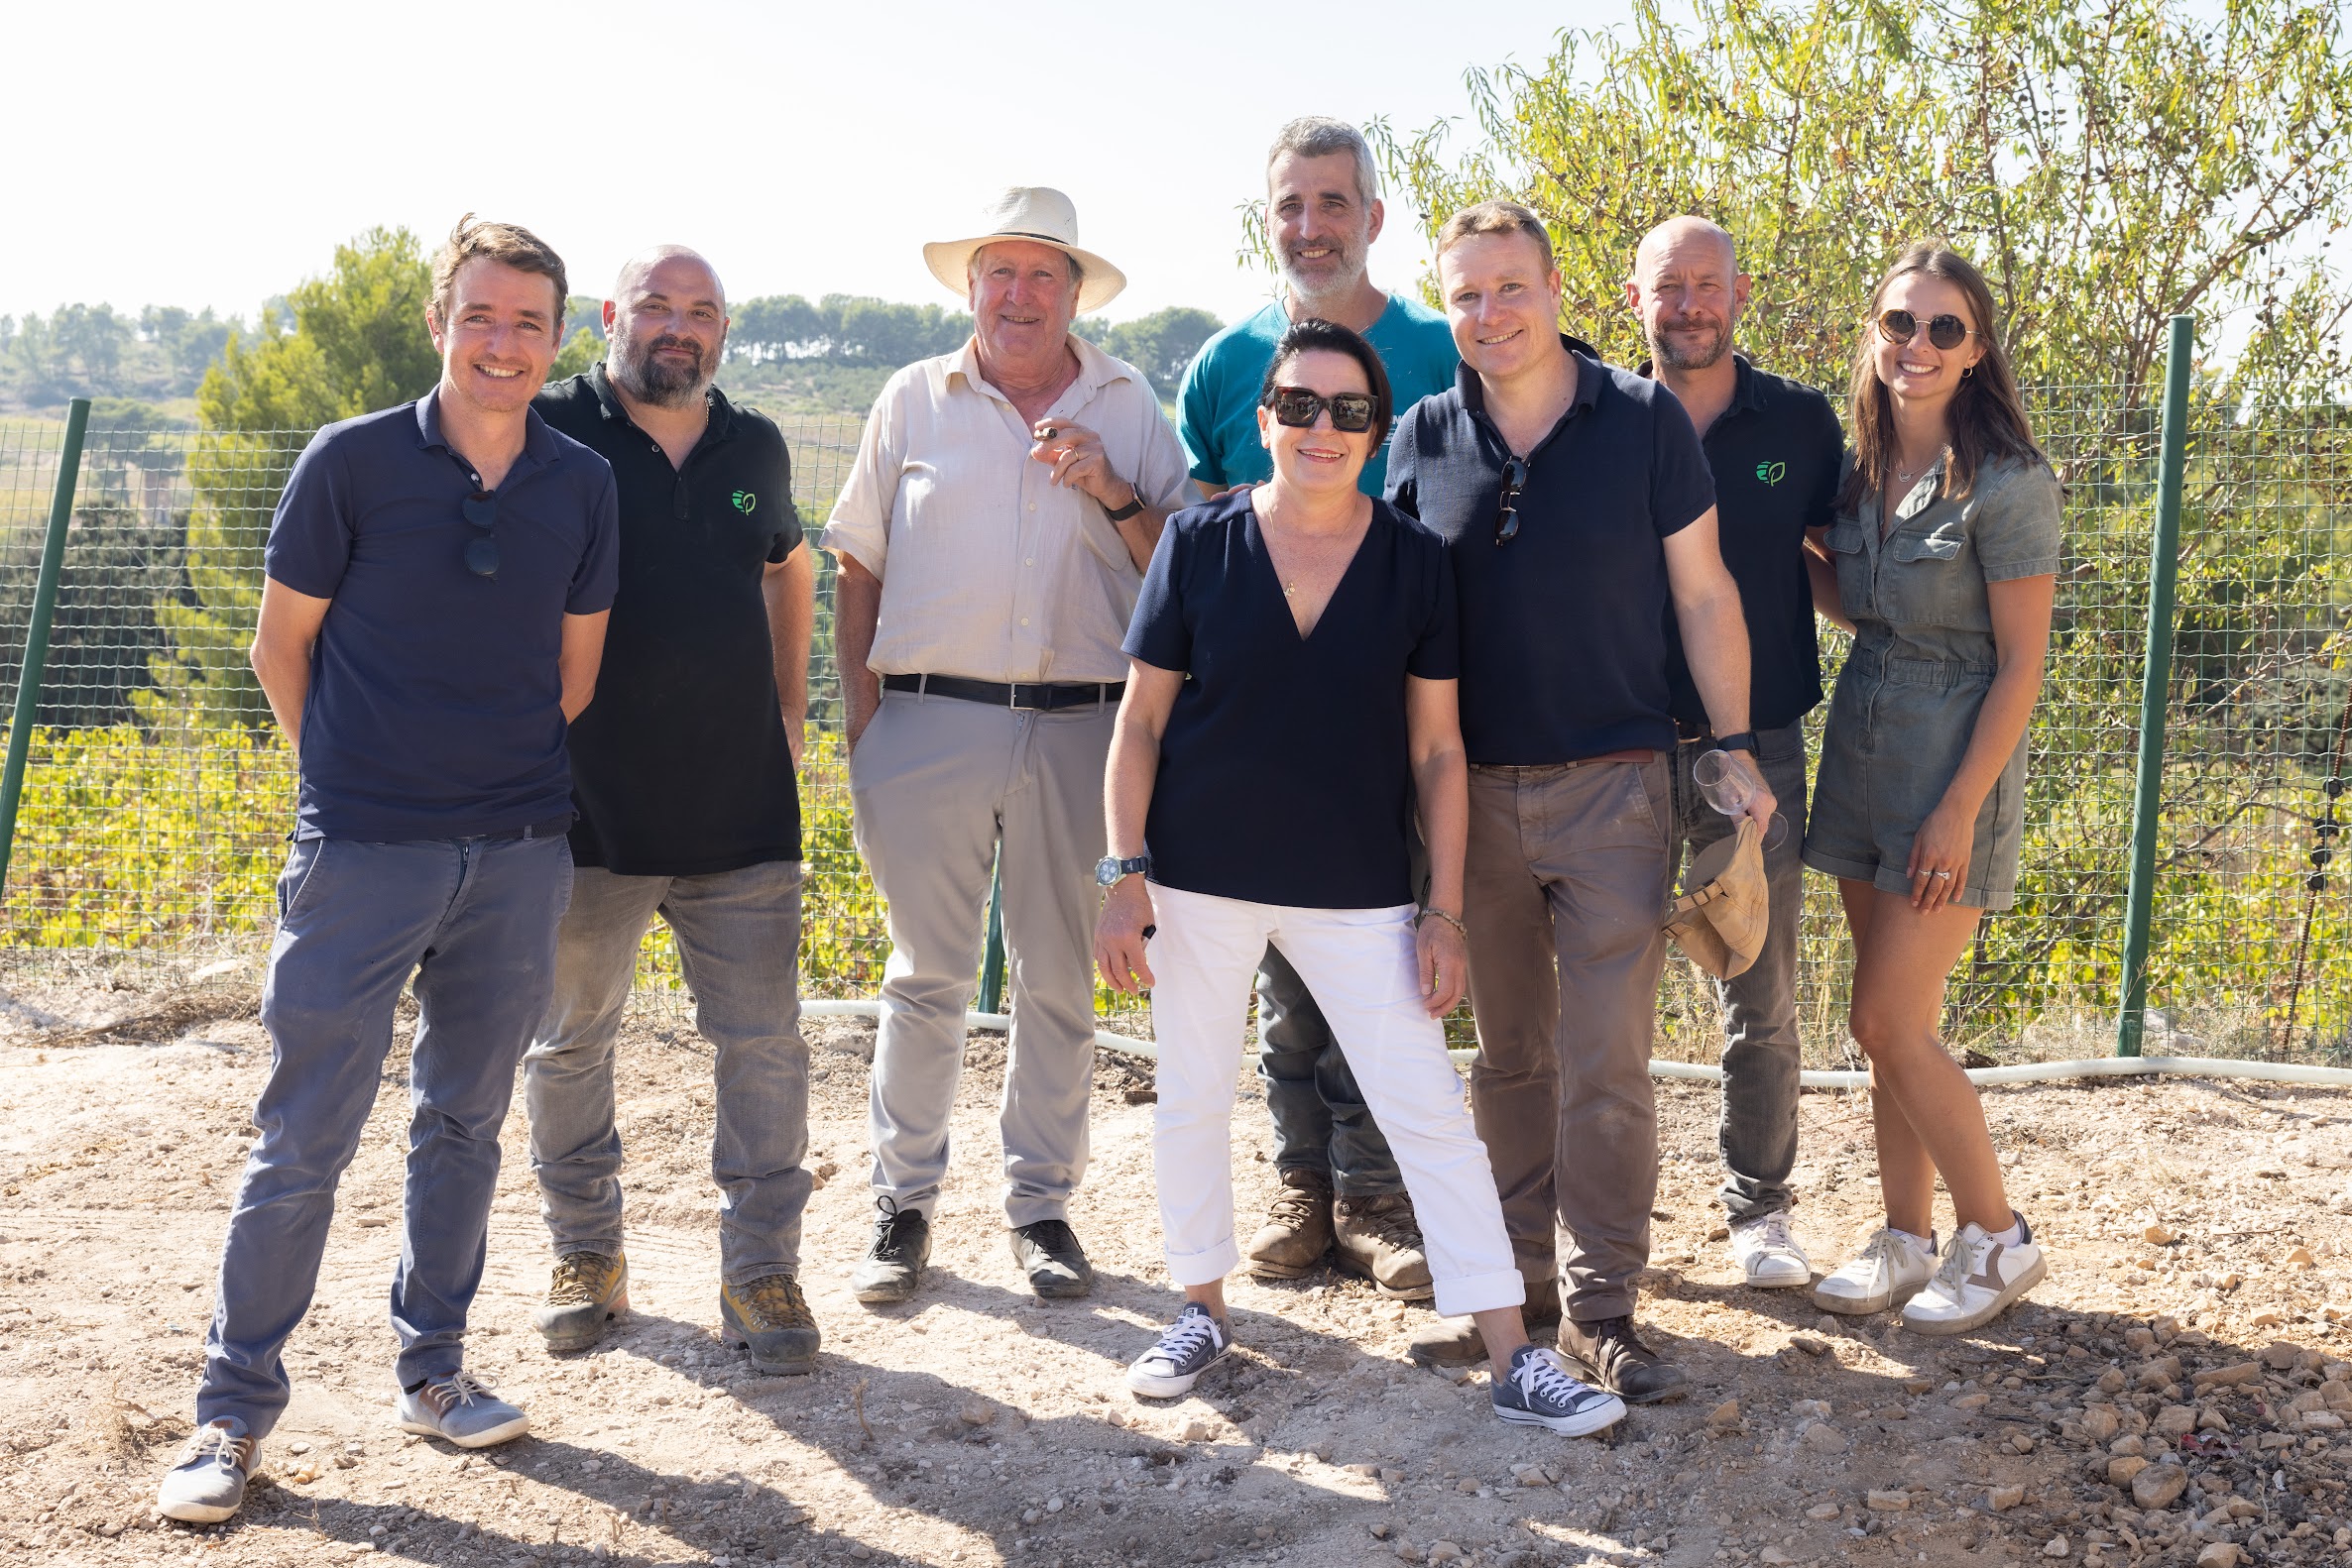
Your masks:
{"label": "large leafy yellow-green tree behind the fence on the right", "polygon": [[[1743,348],[1816,386],[1844,386],[1870,287],[1907,242],[1945,235],[1992,277],[2067,484],[2067,559],[2025,879],[1962,969],[1962,1032],[2016,1039],[2044,1009],[2114,997],[2154,383],[2166,320],[2197,313],[2216,355],[2190,409],[2152,997],[2230,1013],[2216,1044],[2286,1044],[2267,1030],[2291,990],[2352,679],[2338,567],[2352,552],[2352,289],[2321,254],[2352,221],[2340,9],[1691,0],[1677,28],[1637,0],[1628,31],[1564,33],[1548,61],[1472,73],[1470,96],[1486,146],[1465,155],[1446,127],[1378,127],[1390,205],[1430,233],[1494,195],[1545,214],[1566,324],[1616,362],[1644,355],[1621,292],[1635,244],[1677,212],[1740,240],[1757,277]],[[2326,1027],[2352,1051],[2340,884],[2314,914],[2314,961],[2333,964]],[[1809,1025],[1832,1039],[1839,940],[1823,900],[1806,926]]]}

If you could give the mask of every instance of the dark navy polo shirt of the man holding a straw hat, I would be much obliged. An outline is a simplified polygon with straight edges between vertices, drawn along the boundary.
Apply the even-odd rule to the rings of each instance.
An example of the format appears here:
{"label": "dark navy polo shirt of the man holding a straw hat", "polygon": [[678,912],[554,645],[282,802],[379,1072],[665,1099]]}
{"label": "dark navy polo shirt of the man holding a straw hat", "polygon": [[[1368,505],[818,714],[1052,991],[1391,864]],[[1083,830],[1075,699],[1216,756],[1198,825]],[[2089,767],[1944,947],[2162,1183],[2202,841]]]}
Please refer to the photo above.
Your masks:
{"label": "dark navy polo shirt of the man holding a straw hat", "polygon": [[1526,454],[1519,534],[1494,541],[1510,447],[1477,371],[1388,444],[1390,501],[1451,543],[1470,762],[1672,750],[1665,541],[1715,505],[1691,416],[1656,381],[1576,355],[1576,402]]}

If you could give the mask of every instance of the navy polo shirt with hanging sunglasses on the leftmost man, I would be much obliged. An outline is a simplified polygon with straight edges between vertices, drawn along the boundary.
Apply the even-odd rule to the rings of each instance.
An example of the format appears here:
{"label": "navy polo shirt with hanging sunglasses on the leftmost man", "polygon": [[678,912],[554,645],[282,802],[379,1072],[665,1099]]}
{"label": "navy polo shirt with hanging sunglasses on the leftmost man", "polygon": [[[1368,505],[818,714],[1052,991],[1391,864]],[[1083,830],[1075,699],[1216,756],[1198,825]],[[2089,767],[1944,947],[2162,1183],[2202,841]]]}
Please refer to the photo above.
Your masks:
{"label": "navy polo shirt with hanging sunglasses on the leftmost man", "polygon": [[499,576],[466,569],[473,468],[440,388],[327,425],[278,498],[268,576],[334,599],[301,717],[299,839],[405,844],[572,811],[562,623],[612,609],[612,468],[529,414],[499,484]]}

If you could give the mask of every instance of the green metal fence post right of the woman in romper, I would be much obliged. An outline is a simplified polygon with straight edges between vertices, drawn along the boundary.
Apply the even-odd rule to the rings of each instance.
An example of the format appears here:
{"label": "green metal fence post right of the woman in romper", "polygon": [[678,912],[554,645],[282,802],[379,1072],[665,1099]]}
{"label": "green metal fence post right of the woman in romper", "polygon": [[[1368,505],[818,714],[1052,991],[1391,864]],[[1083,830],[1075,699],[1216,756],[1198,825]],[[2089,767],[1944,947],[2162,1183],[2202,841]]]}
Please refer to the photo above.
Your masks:
{"label": "green metal fence post right of the woman in romper", "polygon": [[2157,809],[2164,797],[2164,710],[2173,679],[2173,585],[2180,576],[2180,482],[2187,468],[2190,348],[2197,317],[2176,315],[2164,350],[2164,447],[2157,536],[2147,548],[2147,663],[2140,670],[2140,771],[2131,792],[2131,882],[2124,891],[2124,997],[2114,1053],[2138,1056],[2147,1023],[2147,922],[2157,903]]}

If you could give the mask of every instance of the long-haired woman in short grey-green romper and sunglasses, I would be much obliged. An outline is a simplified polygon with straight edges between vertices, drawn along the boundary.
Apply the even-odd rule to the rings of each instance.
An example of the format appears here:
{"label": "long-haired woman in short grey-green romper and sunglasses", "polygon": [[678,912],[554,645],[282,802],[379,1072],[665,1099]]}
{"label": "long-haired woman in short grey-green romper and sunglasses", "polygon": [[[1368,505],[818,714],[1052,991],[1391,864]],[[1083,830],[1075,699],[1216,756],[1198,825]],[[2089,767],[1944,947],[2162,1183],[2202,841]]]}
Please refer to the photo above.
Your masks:
{"label": "long-haired woman in short grey-green romper and sunglasses", "polygon": [[[1966,1333],[2044,1274],[1985,1110],[1936,1027],[1985,910],[2016,900],[2025,726],[2058,574],[2058,477],[2034,447],[1992,292],[1915,244],[1853,357],[1853,461],[1828,529],[1853,651],[1830,698],[1804,863],[1853,931],[1849,1025],[1870,1058],[1886,1225],[1825,1276],[1828,1312],[1903,1305]],[[1936,1175],[1957,1232],[1936,1260]]]}

